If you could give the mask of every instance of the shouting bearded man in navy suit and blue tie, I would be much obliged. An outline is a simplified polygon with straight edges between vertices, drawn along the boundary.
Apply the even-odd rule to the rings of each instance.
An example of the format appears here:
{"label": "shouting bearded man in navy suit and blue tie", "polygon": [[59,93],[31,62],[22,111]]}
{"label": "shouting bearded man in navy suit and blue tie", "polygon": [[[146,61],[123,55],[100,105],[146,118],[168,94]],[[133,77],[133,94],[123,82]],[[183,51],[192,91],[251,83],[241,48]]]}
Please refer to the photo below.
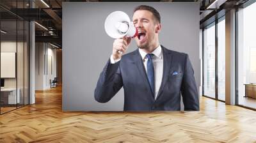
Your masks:
{"label": "shouting bearded man in navy suit and blue tie", "polygon": [[159,44],[159,12],[151,6],[134,9],[132,21],[138,36],[138,49],[125,54],[131,38],[116,39],[113,52],[100,73],[94,97],[106,103],[124,87],[125,111],[199,110],[193,67],[187,54],[168,50]]}

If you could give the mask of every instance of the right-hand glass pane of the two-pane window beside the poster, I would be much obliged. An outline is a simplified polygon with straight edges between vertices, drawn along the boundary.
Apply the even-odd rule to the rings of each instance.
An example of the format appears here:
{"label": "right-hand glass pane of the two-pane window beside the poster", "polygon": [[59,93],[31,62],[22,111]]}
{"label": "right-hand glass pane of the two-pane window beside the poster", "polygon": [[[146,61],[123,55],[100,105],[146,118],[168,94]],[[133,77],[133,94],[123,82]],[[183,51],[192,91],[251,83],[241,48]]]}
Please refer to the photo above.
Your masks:
{"label": "right-hand glass pane of the two-pane window beside the poster", "polygon": [[225,101],[225,19],[218,23],[218,99]]}

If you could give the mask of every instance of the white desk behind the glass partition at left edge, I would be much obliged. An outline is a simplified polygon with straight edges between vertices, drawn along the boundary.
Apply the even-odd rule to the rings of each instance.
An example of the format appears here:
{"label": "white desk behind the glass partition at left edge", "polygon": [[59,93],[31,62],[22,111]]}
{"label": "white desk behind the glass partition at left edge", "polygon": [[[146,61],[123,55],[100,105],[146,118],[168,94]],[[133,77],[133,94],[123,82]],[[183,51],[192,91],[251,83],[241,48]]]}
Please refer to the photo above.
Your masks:
{"label": "white desk behind the glass partition at left edge", "polygon": [[16,98],[16,88],[1,89],[1,102],[4,102],[4,104],[16,104],[16,101],[20,103],[20,89],[18,88],[17,91]]}

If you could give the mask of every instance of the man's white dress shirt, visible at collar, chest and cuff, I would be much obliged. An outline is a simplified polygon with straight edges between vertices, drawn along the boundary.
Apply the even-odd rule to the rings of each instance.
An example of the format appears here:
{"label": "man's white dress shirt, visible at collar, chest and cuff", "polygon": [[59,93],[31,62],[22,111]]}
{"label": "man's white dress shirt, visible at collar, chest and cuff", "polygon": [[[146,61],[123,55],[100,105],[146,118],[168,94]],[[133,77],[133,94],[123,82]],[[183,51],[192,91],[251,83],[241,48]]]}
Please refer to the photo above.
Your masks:
{"label": "man's white dress shirt, visible at collar, chest and cuff", "polygon": [[[143,64],[145,67],[145,70],[147,72],[147,53],[144,52],[142,49],[139,49],[140,52],[140,56],[143,59]],[[159,46],[151,53],[154,54],[154,56],[152,57],[153,60],[153,65],[154,65],[154,79],[155,79],[155,100],[157,98],[157,94],[159,92],[160,86],[161,86],[161,82],[162,82],[162,77],[163,77],[163,51],[161,48],[161,45],[159,44]],[[110,63],[111,64],[115,64],[116,62],[120,61],[120,59],[113,59],[113,56],[111,55],[110,57]]]}

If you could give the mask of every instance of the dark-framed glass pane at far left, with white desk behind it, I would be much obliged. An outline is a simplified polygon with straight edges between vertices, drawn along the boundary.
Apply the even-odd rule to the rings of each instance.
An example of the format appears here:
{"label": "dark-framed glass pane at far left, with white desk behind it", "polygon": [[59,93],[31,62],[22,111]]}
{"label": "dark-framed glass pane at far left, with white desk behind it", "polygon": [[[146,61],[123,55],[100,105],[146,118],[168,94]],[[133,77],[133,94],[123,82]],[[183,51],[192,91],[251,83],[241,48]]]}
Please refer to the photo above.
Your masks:
{"label": "dark-framed glass pane at far left, with white desk behind it", "polygon": [[[1,21],[1,114],[16,109],[17,22]],[[3,32],[4,31],[4,32]]]}

